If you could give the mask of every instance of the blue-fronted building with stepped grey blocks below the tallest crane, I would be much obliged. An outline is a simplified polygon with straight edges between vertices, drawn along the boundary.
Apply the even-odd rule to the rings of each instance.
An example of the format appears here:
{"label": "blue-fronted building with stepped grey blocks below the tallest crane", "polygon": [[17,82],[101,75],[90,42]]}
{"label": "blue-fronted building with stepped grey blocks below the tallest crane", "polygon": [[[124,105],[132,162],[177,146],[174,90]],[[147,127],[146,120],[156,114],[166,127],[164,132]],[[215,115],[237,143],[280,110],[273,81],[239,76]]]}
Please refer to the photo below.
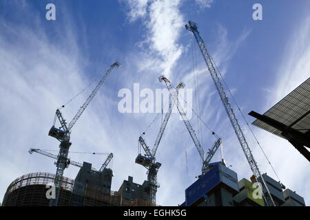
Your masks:
{"label": "blue-fronted building with stepped grey blocks below the tallest crane", "polygon": [[[259,186],[253,181],[238,181],[237,174],[220,162],[208,167],[209,171],[185,190],[185,202],[180,206],[265,206],[258,196]],[[266,173],[262,177],[276,206],[305,206],[304,199],[296,192],[282,191],[285,187]],[[267,193],[265,188],[263,193]]]}

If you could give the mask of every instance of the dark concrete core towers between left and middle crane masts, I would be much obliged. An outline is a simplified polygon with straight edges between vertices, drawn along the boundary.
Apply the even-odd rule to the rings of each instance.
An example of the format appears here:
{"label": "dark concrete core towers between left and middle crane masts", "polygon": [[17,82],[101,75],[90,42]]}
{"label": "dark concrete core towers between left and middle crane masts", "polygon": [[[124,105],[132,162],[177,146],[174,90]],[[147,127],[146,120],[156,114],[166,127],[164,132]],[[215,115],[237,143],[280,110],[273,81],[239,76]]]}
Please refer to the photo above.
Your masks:
{"label": "dark concrete core towers between left and middle crane masts", "polygon": [[112,192],[113,172],[105,168],[102,172],[92,170],[92,164],[83,163],[74,180],[72,206],[147,206],[147,181],[143,185],[128,177],[118,191]]}

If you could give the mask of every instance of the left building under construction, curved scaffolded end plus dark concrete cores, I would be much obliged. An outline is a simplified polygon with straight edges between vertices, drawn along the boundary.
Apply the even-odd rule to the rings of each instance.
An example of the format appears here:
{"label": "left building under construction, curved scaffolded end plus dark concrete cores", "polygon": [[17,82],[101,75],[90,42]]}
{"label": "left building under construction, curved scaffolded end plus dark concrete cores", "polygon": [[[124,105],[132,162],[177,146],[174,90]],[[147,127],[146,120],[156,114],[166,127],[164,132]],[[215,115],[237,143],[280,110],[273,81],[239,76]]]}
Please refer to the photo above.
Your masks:
{"label": "left building under construction, curved scaffolded end plus dark concrete cores", "polygon": [[[136,184],[128,177],[118,191],[111,190],[112,170],[91,170],[92,164],[84,162],[75,179],[63,177],[59,206],[147,206],[147,181]],[[49,206],[46,194],[55,175],[30,173],[23,175],[8,186],[3,206]]]}

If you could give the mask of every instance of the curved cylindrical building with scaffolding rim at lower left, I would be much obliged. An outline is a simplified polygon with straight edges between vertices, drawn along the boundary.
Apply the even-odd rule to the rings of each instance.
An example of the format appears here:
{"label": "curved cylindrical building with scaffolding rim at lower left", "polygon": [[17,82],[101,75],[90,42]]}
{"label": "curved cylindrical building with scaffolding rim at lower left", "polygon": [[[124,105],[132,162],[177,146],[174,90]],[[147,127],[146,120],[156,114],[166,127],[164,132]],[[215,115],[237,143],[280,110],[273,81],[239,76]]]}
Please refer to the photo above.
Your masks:
{"label": "curved cylindrical building with scaffolding rim at lower left", "polygon": [[[54,183],[55,175],[52,173],[29,173],[18,177],[6,190],[3,206],[48,206],[50,199],[46,192]],[[74,180],[63,177],[59,206],[70,206]]]}

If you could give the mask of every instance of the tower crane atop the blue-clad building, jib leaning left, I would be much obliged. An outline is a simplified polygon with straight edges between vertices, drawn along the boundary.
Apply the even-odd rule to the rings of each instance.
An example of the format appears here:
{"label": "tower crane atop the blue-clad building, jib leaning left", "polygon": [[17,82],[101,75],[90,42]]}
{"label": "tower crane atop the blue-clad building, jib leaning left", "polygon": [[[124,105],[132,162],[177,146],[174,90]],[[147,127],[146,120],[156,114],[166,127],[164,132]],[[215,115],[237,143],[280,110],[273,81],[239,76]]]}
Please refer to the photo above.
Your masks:
{"label": "tower crane atop the blue-clad building, jib leaning left", "polygon": [[[171,96],[173,96],[174,101],[178,102],[178,94],[176,89],[174,89],[174,87],[172,87],[172,84],[170,83],[170,81],[165,78],[165,76],[161,76],[158,78],[160,82],[165,82],[165,84],[167,85],[167,88],[171,94]],[[220,146],[220,144],[222,144],[222,140],[220,139],[220,137],[218,138],[218,140],[214,143],[214,146],[211,148],[211,150],[209,150],[209,152],[206,154],[205,151],[203,150],[203,146],[201,146],[198,137],[196,136],[196,133],[192,127],[192,124],[189,122],[186,113],[184,112],[183,108],[180,106],[180,104],[176,104],[176,107],[178,109],[178,112],[180,113],[183,122],[187,128],[187,130],[189,131],[189,135],[191,135],[192,140],[196,146],[196,149],[201,157],[201,159],[203,159],[203,167],[202,167],[202,174],[204,175],[205,173],[207,173],[208,171],[208,167],[207,164],[209,164],[209,162],[211,161],[213,155],[216,153],[216,151],[218,150],[218,147]]]}

